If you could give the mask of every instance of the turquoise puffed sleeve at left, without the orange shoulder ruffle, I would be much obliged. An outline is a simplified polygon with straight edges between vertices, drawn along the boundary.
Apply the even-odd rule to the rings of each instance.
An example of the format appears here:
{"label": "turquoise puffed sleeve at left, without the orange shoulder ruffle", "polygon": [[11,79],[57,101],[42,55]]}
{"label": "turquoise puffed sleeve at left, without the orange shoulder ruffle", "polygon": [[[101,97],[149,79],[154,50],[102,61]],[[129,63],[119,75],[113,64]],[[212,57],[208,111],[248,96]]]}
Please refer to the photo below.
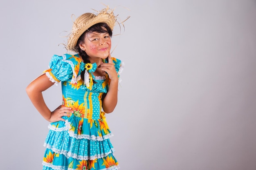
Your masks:
{"label": "turquoise puffed sleeve at left, without the orange shoulder ruffle", "polygon": [[67,56],[53,55],[49,62],[49,69],[45,70],[44,73],[49,79],[58,85],[59,82],[64,82],[74,77],[74,65],[70,60],[67,60]]}

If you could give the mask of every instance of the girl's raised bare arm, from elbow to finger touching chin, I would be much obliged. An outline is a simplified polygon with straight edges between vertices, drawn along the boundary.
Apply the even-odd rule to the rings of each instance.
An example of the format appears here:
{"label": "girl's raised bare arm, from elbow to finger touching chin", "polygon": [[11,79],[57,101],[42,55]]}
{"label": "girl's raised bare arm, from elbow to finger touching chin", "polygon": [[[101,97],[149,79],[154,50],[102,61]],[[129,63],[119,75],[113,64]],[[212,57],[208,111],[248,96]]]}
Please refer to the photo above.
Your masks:
{"label": "girl's raised bare arm, from elbow to finger touching chin", "polygon": [[110,54],[108,56],[108,63],[101,63],[99,68],[101,68],[102,71],[106,71],[111,80],[108,93],[103,97],[102,101],[104,112],[111,113],[117,106],[118,76]]}

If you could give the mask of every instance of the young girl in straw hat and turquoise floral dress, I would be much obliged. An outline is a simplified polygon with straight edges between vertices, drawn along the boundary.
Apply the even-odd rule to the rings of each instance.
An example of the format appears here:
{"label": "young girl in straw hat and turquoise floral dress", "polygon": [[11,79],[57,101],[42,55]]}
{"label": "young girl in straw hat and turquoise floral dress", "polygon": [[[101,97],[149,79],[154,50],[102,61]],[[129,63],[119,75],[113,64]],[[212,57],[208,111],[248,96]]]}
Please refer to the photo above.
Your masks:
{"label": "young girl in straw hat and turquoise floral dress", "polygon": [[[67,50],[76,54],[54,55],[49,69],[31,82],[27,94],[49,122],[43,170],[117,170],[105,119],[117,105],[121,61],[111,57],[113,11],[84,13],[72,27]],[[63,103],[54,111],[42,92],[61,82]]]}

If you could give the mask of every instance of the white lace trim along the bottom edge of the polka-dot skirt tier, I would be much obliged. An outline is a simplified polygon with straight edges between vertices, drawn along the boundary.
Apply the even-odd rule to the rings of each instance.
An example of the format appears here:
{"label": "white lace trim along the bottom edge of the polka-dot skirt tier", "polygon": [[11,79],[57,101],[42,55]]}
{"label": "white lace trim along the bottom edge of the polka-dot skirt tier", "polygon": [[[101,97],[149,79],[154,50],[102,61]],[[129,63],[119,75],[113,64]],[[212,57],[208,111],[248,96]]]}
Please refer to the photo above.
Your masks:
{"label": "white lace trim along the bottom edge of the polka-dot skirt tier", "polygon": [[72,153],[71,151],[67,152],[67,150],[59,150],[57,148],[53,148],[51,145],[47,145],[46,143],[44,144],[44,146],[48,149],[51,149],[53,152],[56,152],[58,154],[63,154],[65,155],[65,157],[70,158],[74,158],[74,159],[79,159],[79,160],[95,160],[95,159],[100,159],[100,158],[103,158],[103,157],[106,157],[108,156],[110,153],[113,153],[115,152],[115,149],[114,148],[111,148],[109,152],[107,153],[101,153],[101,154],[98,154],[98,155],[94,155],[94,156],[82,156],[82,155],[77,155],[75,153]]}

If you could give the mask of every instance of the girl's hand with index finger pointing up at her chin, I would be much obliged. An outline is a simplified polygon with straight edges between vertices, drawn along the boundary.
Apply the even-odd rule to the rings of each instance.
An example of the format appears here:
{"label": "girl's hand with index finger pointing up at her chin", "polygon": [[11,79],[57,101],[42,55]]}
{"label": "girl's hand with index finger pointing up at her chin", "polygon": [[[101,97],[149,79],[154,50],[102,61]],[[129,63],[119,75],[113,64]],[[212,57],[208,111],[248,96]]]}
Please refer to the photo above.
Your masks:
{"label": "girl's hand with index finger pointing up at her chin", "polygon": [[101,68],[101,71],[105,71],[108,73],[108,77],[111,79],[111,81],[118,81],[117,71],[115,69],[115,65],[113,63],[112,57],[109,53],[108,55],[108,63],[101,63],[98,68]]}

